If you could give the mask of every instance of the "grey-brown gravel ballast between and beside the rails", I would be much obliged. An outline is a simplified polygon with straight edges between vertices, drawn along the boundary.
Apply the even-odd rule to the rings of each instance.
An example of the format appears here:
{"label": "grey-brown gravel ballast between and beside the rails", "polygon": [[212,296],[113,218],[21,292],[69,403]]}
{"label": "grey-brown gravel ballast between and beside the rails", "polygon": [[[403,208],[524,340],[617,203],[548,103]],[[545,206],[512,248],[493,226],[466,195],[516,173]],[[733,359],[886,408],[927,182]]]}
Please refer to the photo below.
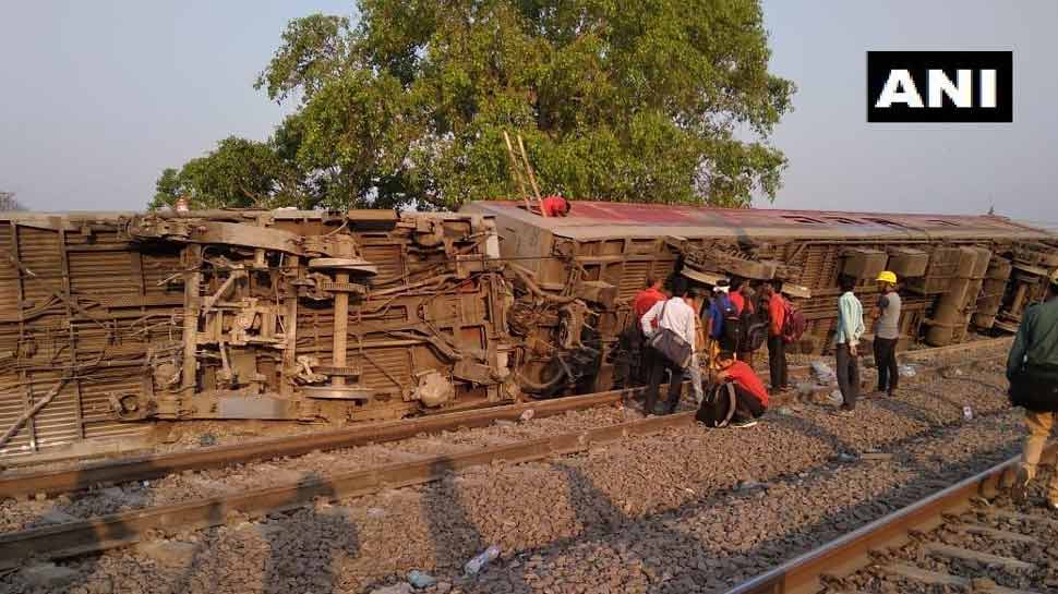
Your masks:
{"label": "grey-brown gravel ballast between and beside the rails", "polygon": [[[420,591],[430,593],[721,592],[1017,453],[1021,415],[1000,389],[1001,367],[978,367],[909,383],[895,400],[863,400],[853,417],[799,405],[746,429],[692,426],[544,462],[479,466],[421,487],[169,534],[168,548],[155,541],[62,562],[77,578],[61,590],[15,572],[0,578],[0,591],[373,592],[404,589],[418,569],[436,579]],[[249,488],[279,471],[325,474],[630,417],[615,408],[578,414],[170,476],[152,483],[141,505]],[[560,419],[569,424],[544,425]],[[204,478],[216,484],[196,487]],[[72,517],[100,512],[79,511],[74,500],[9,501],[3,521],[32,524],[57,505]],[[464,563],[493,544],[501,558],[465,577]]]}

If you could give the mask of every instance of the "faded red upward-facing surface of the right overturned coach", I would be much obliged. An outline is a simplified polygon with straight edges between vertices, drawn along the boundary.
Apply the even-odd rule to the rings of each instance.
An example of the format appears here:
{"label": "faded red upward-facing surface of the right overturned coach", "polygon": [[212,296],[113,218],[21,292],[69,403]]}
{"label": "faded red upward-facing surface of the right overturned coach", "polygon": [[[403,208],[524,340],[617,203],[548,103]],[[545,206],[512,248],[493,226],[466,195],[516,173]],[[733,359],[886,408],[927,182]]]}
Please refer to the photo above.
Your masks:
{"label": "faded red upward-facing surface of the right overturned coach", "polygon": [[791,238],[791,239],[1055,239],[1056,235],[994,215],[910,215],[839,210],[780,210],[706,206],[573,202],[568,217],[541,217],[522,202],[481,201],[465,210],[546,229],[558,237]]}

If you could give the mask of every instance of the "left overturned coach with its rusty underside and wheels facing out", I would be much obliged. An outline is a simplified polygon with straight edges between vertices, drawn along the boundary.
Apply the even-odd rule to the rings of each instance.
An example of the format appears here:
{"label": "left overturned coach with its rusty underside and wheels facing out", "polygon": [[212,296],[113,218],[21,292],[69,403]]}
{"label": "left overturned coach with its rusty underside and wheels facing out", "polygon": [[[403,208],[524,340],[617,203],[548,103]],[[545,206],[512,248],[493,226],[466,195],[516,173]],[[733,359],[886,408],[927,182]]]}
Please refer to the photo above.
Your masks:
{"label": "left overturned coach with its rusty underside and wheels facing out", "polygon": [[368,210],[0,225],[3,453],[145,419],[364,421],[512,400],[492,221]]}

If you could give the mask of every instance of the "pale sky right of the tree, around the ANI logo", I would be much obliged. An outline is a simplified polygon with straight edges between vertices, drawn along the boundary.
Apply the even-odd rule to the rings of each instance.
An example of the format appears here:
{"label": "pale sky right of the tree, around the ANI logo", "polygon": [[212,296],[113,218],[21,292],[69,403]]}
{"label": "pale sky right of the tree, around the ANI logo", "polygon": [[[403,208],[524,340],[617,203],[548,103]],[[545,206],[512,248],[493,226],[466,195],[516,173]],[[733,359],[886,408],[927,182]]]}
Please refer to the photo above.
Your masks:
{"label": "pale sky right of the tree, around the ANI logo", "polygon": [[[1058,227],[1058,2],[766,0],[798,86],[773,142],[783,208],[996,211]],[[1012,124],[866,123],[867,50],[1012,50]]]}

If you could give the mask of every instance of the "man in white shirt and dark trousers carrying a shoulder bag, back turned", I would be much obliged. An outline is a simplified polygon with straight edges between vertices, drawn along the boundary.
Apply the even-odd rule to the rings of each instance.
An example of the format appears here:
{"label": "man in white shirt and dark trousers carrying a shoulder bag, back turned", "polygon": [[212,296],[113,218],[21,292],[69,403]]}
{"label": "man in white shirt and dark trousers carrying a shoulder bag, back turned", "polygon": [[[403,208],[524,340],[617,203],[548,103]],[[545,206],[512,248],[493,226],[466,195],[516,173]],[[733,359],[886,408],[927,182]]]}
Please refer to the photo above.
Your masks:
{"label": "man in white shirt and dark trousers carrying a shoulder bag, back turned", "polygon": [[[699,298],[697,293],[692,294],[688,292],[686,283],[678,282],[673,287],[673,294],[678,296],[654,303],[639,319],[639,325],[642,328],[644,336],[649,341],[653,334],[658,331],[653,327],[653,320],[657,318],[659,320],[659,329],[665,328],[672,330],[694,350],[695,324],[698,319],[696,299]],[[644,413],[654,414],[654,405],[658,403],[661,379],[664,376],[665,369],[669,369],[672,372],[672,377],[669,380],[669,407],[666,414],[672,414],[676,411],[676,405],[680,403],[680,396],[683,392],[683,381],[687,376],[687,369],[670,361],[669,357],[660,352],[656,351],[654,357],[654,365],[650,373],[650,385],[647,388],[647,401],[644,404]]]}

